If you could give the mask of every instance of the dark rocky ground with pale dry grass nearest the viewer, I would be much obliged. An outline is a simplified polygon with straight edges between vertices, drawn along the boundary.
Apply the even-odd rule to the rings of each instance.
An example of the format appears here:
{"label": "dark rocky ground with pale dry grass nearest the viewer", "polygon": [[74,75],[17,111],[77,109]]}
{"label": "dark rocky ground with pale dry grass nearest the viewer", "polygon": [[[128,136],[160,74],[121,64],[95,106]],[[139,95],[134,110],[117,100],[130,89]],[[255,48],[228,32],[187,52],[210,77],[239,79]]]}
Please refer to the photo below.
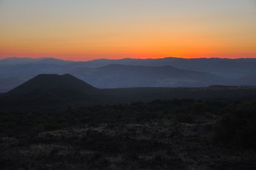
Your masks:
{"label": "dark rocky ground with pale dry grass nearest the viewer", "polygon": [[193,123],[79,125],[1,137],[2,170],[255,170],[256,153],[216,144],[218,116]]}

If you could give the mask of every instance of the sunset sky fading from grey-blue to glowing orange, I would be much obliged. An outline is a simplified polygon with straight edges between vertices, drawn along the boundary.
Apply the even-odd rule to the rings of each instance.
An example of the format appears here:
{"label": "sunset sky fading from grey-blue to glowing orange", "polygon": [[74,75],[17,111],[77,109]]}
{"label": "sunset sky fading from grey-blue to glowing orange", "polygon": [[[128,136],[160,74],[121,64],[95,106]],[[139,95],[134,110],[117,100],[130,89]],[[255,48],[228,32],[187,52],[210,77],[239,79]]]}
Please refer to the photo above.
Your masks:
{"label": "sunset sky fading from grey-blue to glowing orange", "polygon": [[6,57],[256,57],[256,0],[0,0]]}

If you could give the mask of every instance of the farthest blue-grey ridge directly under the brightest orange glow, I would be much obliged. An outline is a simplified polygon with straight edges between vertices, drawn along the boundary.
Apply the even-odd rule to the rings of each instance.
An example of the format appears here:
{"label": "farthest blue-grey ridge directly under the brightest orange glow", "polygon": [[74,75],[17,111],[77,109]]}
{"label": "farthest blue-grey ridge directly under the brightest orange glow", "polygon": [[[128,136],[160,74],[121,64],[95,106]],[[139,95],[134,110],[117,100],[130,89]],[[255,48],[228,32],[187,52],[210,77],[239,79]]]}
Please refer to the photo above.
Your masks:
{"label": "farthest blue-grey ridge directly under the brightest orange glow", "polygon": [[252,73],[256,74],[256,59],[221,59],[221,58],[197,58],[184,59],[166,57],[163,59],[96,59],[87,62],[74,62],[68,65],[73,67],[98,68],[109,64],[143,65],[143,66],[165,66],[176,68],[209,72],[229,78],[239,78]]}

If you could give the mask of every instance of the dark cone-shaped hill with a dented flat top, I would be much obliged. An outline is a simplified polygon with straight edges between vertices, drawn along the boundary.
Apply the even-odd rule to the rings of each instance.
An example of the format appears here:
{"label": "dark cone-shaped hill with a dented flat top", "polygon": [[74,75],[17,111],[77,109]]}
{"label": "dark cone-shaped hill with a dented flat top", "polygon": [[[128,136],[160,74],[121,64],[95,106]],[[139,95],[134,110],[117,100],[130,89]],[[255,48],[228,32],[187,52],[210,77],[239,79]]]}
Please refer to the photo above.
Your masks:
{"label": "dark cone-shaped hill with a dented flat top", "polygon": [[86,82],[73,77],[70,74],[40,74],[22,85],[9,91],[8,94],[26,94],[36,89],[75,89],[76,91],[89,92],[95,91],[97,88],[87,84]]}

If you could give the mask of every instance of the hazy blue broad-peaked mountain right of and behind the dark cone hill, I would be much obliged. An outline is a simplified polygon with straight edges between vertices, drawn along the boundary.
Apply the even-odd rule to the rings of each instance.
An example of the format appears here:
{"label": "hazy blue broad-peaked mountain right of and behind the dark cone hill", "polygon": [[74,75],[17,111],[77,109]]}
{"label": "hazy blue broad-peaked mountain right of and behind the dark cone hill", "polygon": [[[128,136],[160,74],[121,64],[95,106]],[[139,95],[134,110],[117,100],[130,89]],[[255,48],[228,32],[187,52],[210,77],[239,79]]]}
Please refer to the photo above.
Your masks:
{"label": "hazy blue broad-peaked mountain right of and behind the dark cone hill", "polygon": [[219,75],[186,71],[172,66],[112,64],[96,69],[73,69],[68,73],[97,88],[206,87],[209,85],[232,84],[231,79]]}

